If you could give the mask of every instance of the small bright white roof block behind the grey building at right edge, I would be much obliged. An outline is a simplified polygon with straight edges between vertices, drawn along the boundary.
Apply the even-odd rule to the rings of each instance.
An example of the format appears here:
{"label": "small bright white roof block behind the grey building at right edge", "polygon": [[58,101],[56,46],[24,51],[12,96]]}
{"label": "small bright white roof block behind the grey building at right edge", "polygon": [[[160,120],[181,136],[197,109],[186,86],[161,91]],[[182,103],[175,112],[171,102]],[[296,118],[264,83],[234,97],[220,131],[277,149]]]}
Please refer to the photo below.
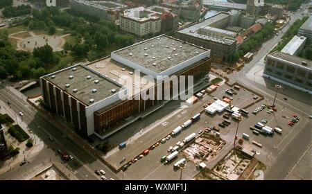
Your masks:
{"label": "small bright white roof block behind the grey building at right edge", "polygon": [[304,48],[304,44],[306,43],[306,37],[295,35],[283,49],[281,49],[281,53],[286,53],[289,55],[299,55]]}

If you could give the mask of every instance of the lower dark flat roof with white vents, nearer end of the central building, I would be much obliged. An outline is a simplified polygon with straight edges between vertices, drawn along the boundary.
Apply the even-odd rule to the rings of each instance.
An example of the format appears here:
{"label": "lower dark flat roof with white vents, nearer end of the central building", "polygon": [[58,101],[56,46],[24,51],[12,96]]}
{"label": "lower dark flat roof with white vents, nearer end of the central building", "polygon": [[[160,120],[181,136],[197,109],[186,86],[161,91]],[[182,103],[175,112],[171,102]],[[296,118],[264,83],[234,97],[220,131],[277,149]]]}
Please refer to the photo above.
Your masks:
{"label": "lower dark flat roof with white vents, nearer end of the central building", "polygon": [[[94,64],[96,64],[96,62],[94,62]],[[76,68],[76,71],[73,71],[73,68]],[[55,76],[55,78],[51,76]],[[69,76],[73,76],[73,78],[70,79]],[[87,76],[91,76],[91,78],[87,79]],[[85,103],[85,105],[92,105],[112,96],[122,87],[113,80],[105,78],[105,76],[102,76],[100,73],[82,64],[56,71],[48,76],[44,76],[44,78],[53,83],[53,85],[60,87],[60,89],[66,91],[74,98],[80,100],[80,102]],[[98,80],[97,84],[95,80]],[[68,88],[66,87],[67,84],[70,85]],[[73,89],[78,89],[78,91],[75,93]],[[92,89],[96,89],[96,92],[92,92]],[[112,93],[112,89],[116,91]],[[90,99],[94,99],[94,103],[90,103]]]}

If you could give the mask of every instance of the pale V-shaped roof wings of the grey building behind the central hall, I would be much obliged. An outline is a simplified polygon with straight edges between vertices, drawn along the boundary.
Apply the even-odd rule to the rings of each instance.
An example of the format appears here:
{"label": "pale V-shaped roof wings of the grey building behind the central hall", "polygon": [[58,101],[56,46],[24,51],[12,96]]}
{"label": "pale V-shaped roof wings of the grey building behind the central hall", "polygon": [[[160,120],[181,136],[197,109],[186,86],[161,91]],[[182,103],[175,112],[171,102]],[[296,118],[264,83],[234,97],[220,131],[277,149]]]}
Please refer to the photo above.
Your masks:
{"label": "pale V-shaped roof wings of the grey building behind the central hall", "polygon": [[231,38],[231,37],[220,38],[220,37],[213,37],[209,35],[201,35],[200,33],[198,33],[198,30],[200,30],[200,28],[205,28],[207,26],[210,26],[211,24],[214,24],[214,22],[219,21],[220,19],[223,19],[225,17],[229,17],[229,14],[220,12],[217,15],[214,15],[212,17],[209,17],[208,19],[205,19],[205,21],[202,21],[198,24],[194,24],[193,26],[189,26],[188,28],[179,30],[178,33],[190,35],[192,37],[198,37],[200,39],[207,39],[209,41],[218,42],[220,44],[226,44],[226,45],[234,44],[234,42],[236,42],[236,39]]}

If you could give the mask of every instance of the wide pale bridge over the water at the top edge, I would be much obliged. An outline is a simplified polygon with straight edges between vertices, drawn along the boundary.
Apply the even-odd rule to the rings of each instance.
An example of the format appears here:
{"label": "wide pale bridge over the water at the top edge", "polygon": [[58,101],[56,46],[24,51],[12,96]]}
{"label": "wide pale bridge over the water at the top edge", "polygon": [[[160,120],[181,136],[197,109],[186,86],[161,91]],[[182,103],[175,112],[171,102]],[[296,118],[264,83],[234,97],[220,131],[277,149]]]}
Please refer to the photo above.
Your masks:
{"label": "wide pale bridge over the water at the top edge", "polygon": [[204,0],[203,5],[215,10],[246,10],[247,5],[223,1]]}

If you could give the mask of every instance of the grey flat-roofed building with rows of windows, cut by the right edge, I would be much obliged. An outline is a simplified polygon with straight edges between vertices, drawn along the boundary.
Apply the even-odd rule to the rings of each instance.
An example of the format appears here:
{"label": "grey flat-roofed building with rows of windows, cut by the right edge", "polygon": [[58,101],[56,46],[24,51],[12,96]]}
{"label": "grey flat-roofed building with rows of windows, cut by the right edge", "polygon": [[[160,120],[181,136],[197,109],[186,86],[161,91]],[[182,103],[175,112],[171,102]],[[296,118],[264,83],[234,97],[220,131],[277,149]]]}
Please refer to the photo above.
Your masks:
{"label": "grey flat-roofed building with rows of windows, cut by the right edge", "polygon": [[266,58],[263,76],[312,94],[312,61],[276,51]]}

